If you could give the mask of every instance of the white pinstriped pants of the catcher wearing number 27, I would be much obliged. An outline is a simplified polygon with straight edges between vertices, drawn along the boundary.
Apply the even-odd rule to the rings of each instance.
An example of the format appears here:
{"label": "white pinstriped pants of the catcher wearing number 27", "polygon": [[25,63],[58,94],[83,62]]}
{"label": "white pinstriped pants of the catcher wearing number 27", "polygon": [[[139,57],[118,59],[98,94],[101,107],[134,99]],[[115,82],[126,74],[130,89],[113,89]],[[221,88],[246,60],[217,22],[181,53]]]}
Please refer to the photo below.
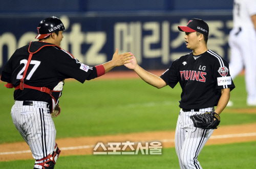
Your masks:
{"label": "white pinstriped pants of the catcher wearing number 27", "polygon": [[[42,159],[54,151],[56,129],[46,102],[33,102],[24,106],[15,101],[11,115],[20,135],[28,143],[35,160]],[[41,166],[39,166],[41,168]]]}

